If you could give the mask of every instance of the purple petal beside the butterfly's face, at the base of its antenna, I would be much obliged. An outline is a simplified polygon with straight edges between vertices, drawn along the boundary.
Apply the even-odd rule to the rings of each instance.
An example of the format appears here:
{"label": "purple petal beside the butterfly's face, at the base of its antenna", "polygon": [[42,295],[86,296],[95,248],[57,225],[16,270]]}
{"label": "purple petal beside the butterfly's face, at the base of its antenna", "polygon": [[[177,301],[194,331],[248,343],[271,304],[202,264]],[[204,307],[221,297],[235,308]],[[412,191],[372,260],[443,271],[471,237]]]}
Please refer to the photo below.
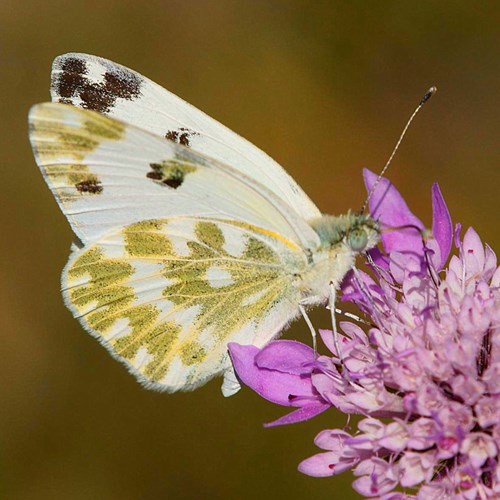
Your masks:
{"label": "purple petal beside the butterfly's face, at the base of its antenna", "polygon": [[[366,168],[363,170],[363,175],[366,189],[370,192],[378,176]],[[415,228],[395,229],[383,233],[382,242],[388,253],[397,250],[422,255],[421,230],[424,229],[424,225],[420,219],[413,215],[403,197],[385,177],[375,188],[369,205],[372,217],[380,220],[382,229],[399,228],[406,225],[415,226]]]}

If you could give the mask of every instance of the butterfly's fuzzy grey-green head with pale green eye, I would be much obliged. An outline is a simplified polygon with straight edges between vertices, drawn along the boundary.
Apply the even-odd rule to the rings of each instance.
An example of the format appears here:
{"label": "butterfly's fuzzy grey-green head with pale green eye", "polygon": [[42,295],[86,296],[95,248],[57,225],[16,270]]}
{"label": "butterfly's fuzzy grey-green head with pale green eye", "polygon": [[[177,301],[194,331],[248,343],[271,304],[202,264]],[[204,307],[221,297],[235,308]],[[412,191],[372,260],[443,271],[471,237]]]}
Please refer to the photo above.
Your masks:
{"label": "butterfly's fuzzy grey-green head with pale green eye", "polygon": [[324,249],[343,245],[357,255],[370,250],[380,240],[378,221],[366,214],[323,215],[312,221],[311,226]]}

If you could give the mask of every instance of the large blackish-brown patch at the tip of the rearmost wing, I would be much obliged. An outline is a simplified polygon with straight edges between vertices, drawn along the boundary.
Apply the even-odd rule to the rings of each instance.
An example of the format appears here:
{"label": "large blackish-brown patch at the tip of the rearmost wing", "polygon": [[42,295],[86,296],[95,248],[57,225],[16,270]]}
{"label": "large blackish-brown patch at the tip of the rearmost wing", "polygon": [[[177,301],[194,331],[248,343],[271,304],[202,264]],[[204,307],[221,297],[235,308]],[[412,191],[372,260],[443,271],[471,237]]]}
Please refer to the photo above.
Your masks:
{"label": "large blackish-brown patch at the tip of the rearmost wing", "polygon": [[[141,79],[125,68],[110,66],[102,81],[94,82],[88,77],[87,63],[70,57],[62,64],[53,86],[60,96],[59,102],[108,113],[117,99],[133,100],[140,95]],[[81,102],[74,102],[78,98]]]}

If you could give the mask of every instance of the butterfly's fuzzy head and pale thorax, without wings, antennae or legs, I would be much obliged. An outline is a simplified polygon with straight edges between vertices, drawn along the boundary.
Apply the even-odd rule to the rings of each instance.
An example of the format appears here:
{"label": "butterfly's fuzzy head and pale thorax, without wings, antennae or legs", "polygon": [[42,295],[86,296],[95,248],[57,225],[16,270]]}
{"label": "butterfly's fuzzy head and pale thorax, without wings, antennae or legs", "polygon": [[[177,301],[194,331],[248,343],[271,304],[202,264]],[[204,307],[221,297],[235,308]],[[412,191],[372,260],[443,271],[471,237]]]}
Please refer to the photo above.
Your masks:
{"label": "butterfly's fuzzy head and pale thorax, without wings, antennae or legs", "polygon": [[379,223],[369,215],[322,215],[310,222],[320,245],[311,253],[311,263],[303,274],[301,289],[317,302],[329,296],[329,286],[340,285],[354,266],[356,257],[373,248],[380,239]]}

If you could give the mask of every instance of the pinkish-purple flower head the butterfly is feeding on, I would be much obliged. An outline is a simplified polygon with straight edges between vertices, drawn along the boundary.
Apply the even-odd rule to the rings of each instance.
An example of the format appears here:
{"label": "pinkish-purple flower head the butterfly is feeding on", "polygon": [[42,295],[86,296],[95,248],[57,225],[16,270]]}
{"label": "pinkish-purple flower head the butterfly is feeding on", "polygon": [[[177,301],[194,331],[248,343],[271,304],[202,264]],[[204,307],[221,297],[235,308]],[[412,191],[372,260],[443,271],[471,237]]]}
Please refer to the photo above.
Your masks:
{"label": "pinkish-purple flower head the butterfly is feeding on", "polygon": [[[374,174],[366,171],[365,181],[369,190]],[[284,404],[287,392],[306,396],[297,405],[302,417],[329,406],[364,416],[352,433],[322,431],[315,442],[324,451],[299,470],[331,476],[353,469],[353,487],[366,497],[500,496],[500,268],[472,228],[463,239],[459,225],[453,232],[437,185],[432,200],[426,234],[382,179],[370,211],[387,229],[384,252],[370,252],[371,272],[351,273],[342,287],[342,300],[354,302],[370,327],[341,322],[341,353],[332,332],[321,331],[327,356],[315,358],[307,348],[301,357],[306,346],[294,343],[280,372],[288,378],[274,401]],[[457,252],[449,259],[453,240]],[[284,342],[253,348],[254,367],[265,358],[275,371],[272,353]],[[235,368],[255,389],[242,376],[242,349],[248,347],[231,347]],[[268,397],[268,386],[257,392]],[[397,487],[405,493],[395,493]]]}

